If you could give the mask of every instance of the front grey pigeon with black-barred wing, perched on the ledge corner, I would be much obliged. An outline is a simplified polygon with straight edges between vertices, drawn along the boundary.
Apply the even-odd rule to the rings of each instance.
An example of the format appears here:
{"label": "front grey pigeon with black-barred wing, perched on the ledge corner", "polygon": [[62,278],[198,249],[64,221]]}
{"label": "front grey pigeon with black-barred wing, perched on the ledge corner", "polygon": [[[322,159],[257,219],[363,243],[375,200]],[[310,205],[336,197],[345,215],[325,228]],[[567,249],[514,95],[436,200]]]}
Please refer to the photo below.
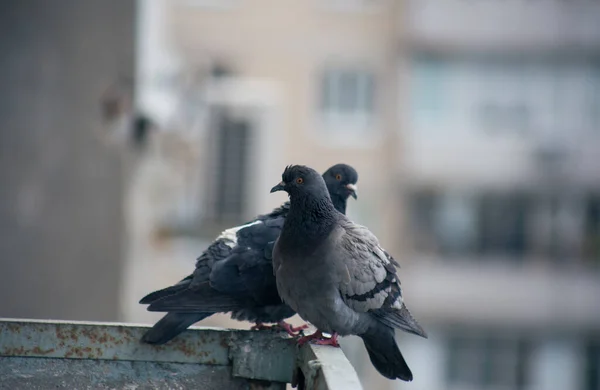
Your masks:
{"label": "front grey pigeon with black-barred wing, perched on the ledge corner", "polygon": [[403,302],[399,264],[367,228],[335,209],[325,182],[313,169],[288,166],[282,179],[271,189],[290,197],[273,250],[277,291],[318,329],[298,343],[339,346],[338,335],[357,335],[379,373],[411,381],[394,329],[425,338],[427,334]]}

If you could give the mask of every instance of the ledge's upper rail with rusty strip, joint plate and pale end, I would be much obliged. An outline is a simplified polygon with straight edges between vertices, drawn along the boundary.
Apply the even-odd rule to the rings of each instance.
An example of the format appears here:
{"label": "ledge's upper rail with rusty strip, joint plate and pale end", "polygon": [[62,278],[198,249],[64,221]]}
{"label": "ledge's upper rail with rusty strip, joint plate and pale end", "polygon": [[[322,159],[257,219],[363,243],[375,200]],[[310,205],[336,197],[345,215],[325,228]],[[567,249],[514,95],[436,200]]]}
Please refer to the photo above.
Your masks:
{"label": "ledge's upper rail with rusty strip, joint plate and pale end", "polygon": [[234,376],[297,382],[307,390],[362,389],[343,351],[285,334],[194,327],[161,346],[139,340],[148,325],[0,318],[0,356],[146,361],[233,366]]}

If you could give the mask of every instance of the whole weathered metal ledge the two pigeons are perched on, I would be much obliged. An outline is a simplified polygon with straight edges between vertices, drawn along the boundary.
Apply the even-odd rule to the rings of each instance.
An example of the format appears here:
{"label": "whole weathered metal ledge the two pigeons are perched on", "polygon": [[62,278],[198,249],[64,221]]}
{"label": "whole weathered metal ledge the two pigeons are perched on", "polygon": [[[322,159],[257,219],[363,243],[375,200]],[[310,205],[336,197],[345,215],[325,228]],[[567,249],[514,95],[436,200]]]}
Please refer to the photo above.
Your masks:
{"label": "whole weathered metal ledge the two pigeons are perched on", "polygon": [[218,328],[151,346],[139,342],[147,329],[0,319],[0,388],[361,389],[337,348],[298,349],[284,334]]}

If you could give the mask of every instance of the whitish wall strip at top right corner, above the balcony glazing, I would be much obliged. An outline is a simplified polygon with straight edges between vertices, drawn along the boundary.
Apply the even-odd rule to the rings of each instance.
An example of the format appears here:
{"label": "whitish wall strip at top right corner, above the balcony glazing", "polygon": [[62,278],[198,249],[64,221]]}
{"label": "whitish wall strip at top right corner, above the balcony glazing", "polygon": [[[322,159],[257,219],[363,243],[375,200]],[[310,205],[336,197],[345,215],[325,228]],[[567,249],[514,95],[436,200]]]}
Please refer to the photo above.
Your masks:
{"label": "whitish wall strip at top right corner, above the balcony glazing", "polygon": [[590,0],[410,0],[404,18],[422,44],[600,46],[600,3]]}

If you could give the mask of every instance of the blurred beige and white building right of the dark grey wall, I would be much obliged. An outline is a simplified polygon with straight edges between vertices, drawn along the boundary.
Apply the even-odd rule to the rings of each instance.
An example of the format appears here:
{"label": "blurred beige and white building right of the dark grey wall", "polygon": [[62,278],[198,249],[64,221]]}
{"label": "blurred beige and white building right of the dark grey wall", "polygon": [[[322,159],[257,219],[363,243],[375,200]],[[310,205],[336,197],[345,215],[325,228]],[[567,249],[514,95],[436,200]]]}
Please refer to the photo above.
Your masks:
{"label": "blurred beige and white building right of the dark grey wall", "polygon": [[127,203],[127,319],[157,319],[141,296],[282,202],[286,164],[347,162],[349,214],[431,336],[400,337],[411,384],[344,340],[366,388],[598,389],[598,4],[139,5],[137,105],[160,131]]}

